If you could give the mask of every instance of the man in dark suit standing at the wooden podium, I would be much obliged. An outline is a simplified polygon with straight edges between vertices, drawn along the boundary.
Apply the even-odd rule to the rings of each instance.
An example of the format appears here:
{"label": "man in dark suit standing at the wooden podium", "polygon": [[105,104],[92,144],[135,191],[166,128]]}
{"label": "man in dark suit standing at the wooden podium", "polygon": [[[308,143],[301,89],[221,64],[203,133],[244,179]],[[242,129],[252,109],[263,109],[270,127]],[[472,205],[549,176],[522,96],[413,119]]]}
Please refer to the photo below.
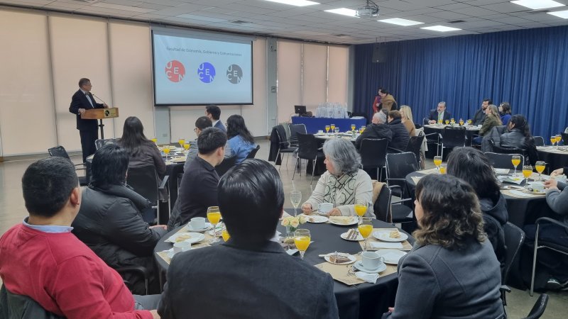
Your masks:
{"label": "man in dark suit standing at the wooden podium", "polygon": [[73,94],[71,105],[69,106],[70,113],[77,116],[77,130],[79,130],[79,135],[81,136],[83,162],[87,162],[87,156],[94,154],[97,150],[97,147],[94,146],[94,141],[99,138],[99,132],[97,131],[97,120],[83,120],[81,114],[92,108],[109,107],[105,103],[94,101],[91,88],[91,80],[86,78],[80,79],[79,90]]}

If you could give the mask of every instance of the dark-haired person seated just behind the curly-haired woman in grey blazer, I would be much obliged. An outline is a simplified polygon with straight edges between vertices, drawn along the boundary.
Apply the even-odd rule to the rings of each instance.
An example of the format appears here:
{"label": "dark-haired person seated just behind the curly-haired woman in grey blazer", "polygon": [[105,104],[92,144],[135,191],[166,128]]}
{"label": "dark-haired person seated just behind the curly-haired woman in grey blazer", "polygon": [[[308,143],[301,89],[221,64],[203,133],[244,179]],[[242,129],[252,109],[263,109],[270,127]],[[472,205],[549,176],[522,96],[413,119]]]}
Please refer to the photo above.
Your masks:
{"label": "dark-haired person seated just behind the curly-haired woman in grey blazer", "polygon": [[507,202],[501,194],[499,181],[489,159],[473,147],[456,147],[449,153],[447,172],[467,181],[479,198],[484,218],[484,231],[499,262],[505,262],[505,233],[503,225],[509,214]]}

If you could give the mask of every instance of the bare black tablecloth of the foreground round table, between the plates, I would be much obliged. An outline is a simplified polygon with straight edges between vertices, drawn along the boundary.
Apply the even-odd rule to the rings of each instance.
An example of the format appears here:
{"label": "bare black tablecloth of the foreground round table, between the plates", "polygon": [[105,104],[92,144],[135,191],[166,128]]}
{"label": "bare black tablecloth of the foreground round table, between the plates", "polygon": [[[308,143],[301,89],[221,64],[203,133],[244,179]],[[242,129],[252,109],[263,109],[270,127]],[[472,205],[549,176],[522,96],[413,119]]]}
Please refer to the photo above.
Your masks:
{"label": "bare black tablecloth of the foreground round table, between the plates", "polygon": [[[288,211],[288,209],[286,210]],[[292,211],[293,212],[293,211]],[[289,211],[290,213],[290,211]],[[185,226],[182,226],[185,227]],[[349,228],[354,226],[337,226],[328,223],[314,224],[305,223],[300,228],[307,228],[312,235],[312,244],[305,253],[305,261],[310,264],[321,264],[324,259],[318,257],[319,254],[327,254],[329,252],[349,252],[355,254],[361,251],[359,242],[351,242],[343,240],[339,237]],[[373,220],[374,228],[394,228],[393,225],[384,223],[381,220]],[[172,243],[165,242],[170,235],[178,232],[177,228],[167,235],[164,235],[154,248],[154,256],[161,272],[167,272],[169,264],[156,254],[172,247]],[[280,233],[285,234],[285,228],[278,224]],[[400,230],[403,231],[403,230]],[[219,242],[219,244],[222,240]],[[408,236],[408,242],[414,244],[414,238]],[[219,245],[214,244],[214,245]],[[201,248],[200,248],[201,249]],[[299,254],[294,257],[299,258]],[[160,276],[161,277],[161,276]],[[381,315],[387,311],[389,306],[394,305],[396,289],[398,288],[398,276],[396,273],[380,277],[376,284],[357,284],[348,286],[339,281],[334,280],[334,293],[337,299],[337,307],[339,308],[340,318],[381,318]]]}

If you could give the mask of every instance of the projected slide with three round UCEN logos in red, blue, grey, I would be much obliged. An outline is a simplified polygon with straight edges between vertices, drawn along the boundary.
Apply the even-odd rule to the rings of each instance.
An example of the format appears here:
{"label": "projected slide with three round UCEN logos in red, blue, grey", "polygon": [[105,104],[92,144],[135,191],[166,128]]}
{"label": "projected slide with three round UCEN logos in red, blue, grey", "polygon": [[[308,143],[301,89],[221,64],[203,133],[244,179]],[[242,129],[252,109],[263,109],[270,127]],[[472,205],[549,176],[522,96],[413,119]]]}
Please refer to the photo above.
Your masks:
{"label": "projected slide with three round UCEN logos in red, blue, grey", "polygon": [[156,106],[252,104],[252,40],[153,30]]}

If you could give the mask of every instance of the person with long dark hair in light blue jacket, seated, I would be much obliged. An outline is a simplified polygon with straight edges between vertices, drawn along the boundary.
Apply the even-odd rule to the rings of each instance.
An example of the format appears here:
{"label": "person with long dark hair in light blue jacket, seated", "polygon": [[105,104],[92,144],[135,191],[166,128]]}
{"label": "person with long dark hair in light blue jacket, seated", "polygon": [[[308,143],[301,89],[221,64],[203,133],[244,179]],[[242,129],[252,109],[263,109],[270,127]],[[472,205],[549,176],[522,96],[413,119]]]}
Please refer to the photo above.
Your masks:
{"label": "person with long dark hair in light blue jacket, seated", "polygon": [[236,155],[236,164],[243,162],[251,150],[256,148],[253,135],[244,124],[244,118],[231,115],[226,119],[226,136],[229,138],[231,152]]}

